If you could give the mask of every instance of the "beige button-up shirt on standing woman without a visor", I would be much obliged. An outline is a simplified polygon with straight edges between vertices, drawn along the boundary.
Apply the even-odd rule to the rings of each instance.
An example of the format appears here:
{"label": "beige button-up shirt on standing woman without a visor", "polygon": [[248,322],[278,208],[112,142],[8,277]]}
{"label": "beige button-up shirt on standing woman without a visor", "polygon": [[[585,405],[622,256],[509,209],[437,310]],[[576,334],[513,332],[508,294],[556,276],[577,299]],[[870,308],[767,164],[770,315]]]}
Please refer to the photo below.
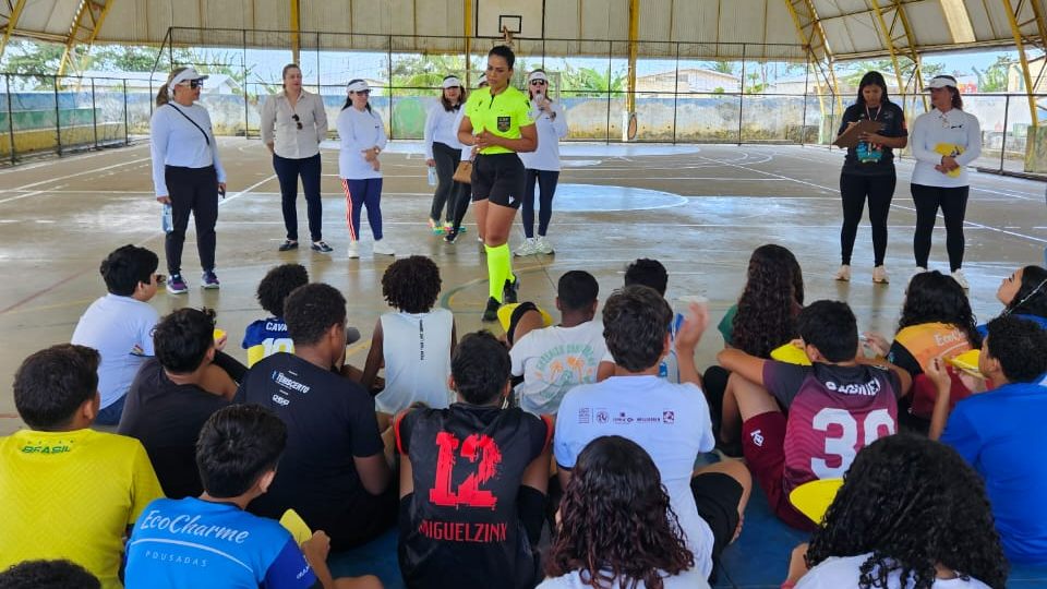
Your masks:
{"label": "beige button-up shirt on standing woman without a visor", "polygon": [[[294,116],[298,116],[298,121]],[[302,123],[299,129],[297,123]],[[302,91],[294,108],[280,92],[262,105],[262,143],[273,144],[273,151],[288,159],[305,159],[320,153],[320,143],[327,139],[327,111],[324,99]]]}

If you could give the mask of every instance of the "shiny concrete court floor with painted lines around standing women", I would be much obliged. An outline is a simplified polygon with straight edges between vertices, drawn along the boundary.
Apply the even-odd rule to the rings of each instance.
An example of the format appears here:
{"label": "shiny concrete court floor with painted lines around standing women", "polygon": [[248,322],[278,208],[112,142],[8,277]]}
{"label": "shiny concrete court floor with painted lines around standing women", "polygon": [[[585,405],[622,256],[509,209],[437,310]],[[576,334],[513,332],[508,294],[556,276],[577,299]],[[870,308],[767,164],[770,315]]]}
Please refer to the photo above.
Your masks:
{"label": "shiny concrete court floor with painted lines around standing women", "polygon": [[[387,309],[381,275],[394,259],[372,257],[366,228],[361,259],[347,259],[337,146],[323,152],[324,237],[335,251],[278,253],[284,228],[268,153],[258,141],[219,143],[229,177],[229,197],[221,203],[218,224],[221,289],[200,289],[191,230],[183,261],[190,292],[169,296],[161,290],[152,303],[161,314],[183,305],[215,308],[218,326],[230,335],[227,350],[244,359],[239,347],[243,329],[263,316],[254,300],[258,279],[273,265],[299,262],[314,280],[345,292],[349,322],[363,334],[350,348],[350,362],[362,365],[374,323]],[[914,267],[912,159],[899,164],[889,286],[871,283],[867,223],[859,228],[853,281],[832,279],[839,265],[842,159],[840,151],[814,146],[565,144],[550,229],[557,253],[514,260],[522,279],[521,299],[552,309],[557,278],[574,268],[593,273],[601,298],[606,298],[621,285],[628,262],[655,257],[670,272],[667,297],[707,296],[714,325],[737,299],[753,249],[777,242],[799,260],[808,302],[845,300],[855,309],[859,328],[890,336]],[[386,237],[400,255],[423,254],[437,262],[443,277],[440,304],[455,312],[458,333],[466,334],[483,326],[484,257],[471,214],[468,232],[454,245],[429,232],[432,189],[422,160],[418,143],[394,143],[383,155]],[[304,239],[304,205],[299,212]],[[124,243],[151,248],[165,272],[159,225],[146,143],[0,170],[0,435],[21,425],[11,396],[19,363],[39,348],[69,341],[77,317],[105,293],[98,264],[108,252]],[[1019,266],[1044,263],[1045,225],[1043,183],[973,173],[964,269],[980,321],[998,313],[995,292],[1002,277]],[[514,232],[510,245],[522,239],[519,225]],[[931,267],[948,269],[940,220]],[[710,328],[698,350],[699,368],[711,363],[721,347],[719,334]]]}

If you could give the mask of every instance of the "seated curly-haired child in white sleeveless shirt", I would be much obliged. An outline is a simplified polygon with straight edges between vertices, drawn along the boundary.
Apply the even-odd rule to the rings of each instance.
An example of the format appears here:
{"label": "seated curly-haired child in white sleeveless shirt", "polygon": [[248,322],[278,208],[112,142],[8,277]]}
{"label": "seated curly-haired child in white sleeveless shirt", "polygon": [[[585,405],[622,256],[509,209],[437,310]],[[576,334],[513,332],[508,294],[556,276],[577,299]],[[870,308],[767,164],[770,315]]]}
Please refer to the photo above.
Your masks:
{"label": "seated curly-haired child in white sleeveless shirt", "polygon": [[385,388],[374,399],[378,411],[398,413],[414,401],[434,408],[450,405],[447,376],[458,339],[455,316],[433,309],[440,296],[440,268],[422,255],[401,257],[382,276],[382,294],[394,312],[383,313],[371,336],[362,384],[371,389],[385,366]]}

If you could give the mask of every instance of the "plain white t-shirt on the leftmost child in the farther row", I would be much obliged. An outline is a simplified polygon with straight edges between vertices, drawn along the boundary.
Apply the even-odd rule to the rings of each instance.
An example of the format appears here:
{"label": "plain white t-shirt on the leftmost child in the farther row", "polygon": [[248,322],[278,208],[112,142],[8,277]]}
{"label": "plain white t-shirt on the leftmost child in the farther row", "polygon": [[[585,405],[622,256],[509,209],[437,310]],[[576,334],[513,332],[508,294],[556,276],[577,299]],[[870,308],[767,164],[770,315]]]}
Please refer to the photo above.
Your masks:
{"label": "plain white t-shirt on the leftmost child in the farther row", "polygon": [[72,344],[98,350],[98,392],[105,409],[131,388],[134,375],[153,351],[153,327],[160,314],[149,303],[106,294],[91,303],[73,332]]}

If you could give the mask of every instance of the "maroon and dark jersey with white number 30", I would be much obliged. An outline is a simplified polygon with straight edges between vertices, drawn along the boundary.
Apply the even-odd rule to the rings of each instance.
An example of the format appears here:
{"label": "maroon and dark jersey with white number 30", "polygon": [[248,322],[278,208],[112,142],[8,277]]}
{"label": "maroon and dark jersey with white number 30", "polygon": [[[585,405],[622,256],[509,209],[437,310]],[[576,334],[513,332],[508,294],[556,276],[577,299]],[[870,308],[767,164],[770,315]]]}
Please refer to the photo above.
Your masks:
{"label": "maroon and dark jersey with white number 30", "polygon": [[763,383],[786,409],[785,493],[843,477],[855,454],[898,431],[898,376],[858,364],[801,366],[769,360]]}

